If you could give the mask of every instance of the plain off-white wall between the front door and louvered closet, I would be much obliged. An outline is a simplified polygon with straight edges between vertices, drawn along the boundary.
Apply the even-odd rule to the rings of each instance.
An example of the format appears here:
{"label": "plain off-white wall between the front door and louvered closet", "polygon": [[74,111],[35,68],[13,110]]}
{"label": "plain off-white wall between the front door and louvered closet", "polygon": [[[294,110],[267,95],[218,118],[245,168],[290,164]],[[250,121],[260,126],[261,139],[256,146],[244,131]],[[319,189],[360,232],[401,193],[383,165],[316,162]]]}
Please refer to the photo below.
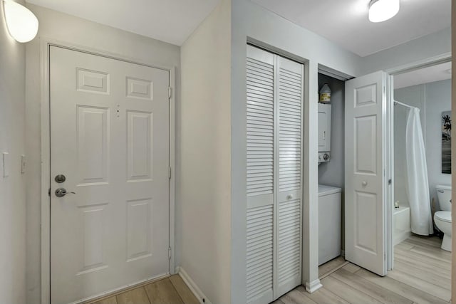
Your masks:
{"label": "plain off-white wall between the front door and louvered closet", "polygon": [[214,304],[230,303],[237,263],[230,255],[230,2],[222,0],[181,48],[181,267]]}

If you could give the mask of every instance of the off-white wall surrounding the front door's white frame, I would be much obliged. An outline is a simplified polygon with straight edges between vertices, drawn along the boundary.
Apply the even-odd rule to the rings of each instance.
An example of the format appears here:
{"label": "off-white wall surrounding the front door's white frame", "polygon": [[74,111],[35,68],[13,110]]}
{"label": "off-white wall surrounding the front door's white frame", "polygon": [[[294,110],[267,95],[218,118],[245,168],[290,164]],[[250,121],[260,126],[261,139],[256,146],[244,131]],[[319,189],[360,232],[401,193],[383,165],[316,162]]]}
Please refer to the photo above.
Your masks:
{"label": "off-white wall surrounding the front door's white frame", "polygon": [[[176,110],[180,113],[180,48],[151,38],[121,31],[110,26],[62,14],[41,6],[27,5],[38,17],[38,37],[67,41],[99,51],[118,54],[142,63],[175,66]],[[2,43],[2,46],[4,44]],[[41,70],[40,41],[36,38],[26,47],[26,150],[27,174],[27,303],[39,303],[41,297]],[[11,59],[9,59],[11,61]],[[3,111],[2,111],[3,112]],[[14,117],[9,115],[9,117]],[[23,116],[24,117],[24,116]],[[16,120],[19,123],[22,120]],[[176,161],[180,162],[180,125],[176,125]],[[176,171],[177,184],[180,182]],[[176,201],[176,234],[180,236],[179,197]],[[176,240],[176,259],[179,263],[180,239]],[[46,270],[43,270],[46,271]],[[3,285],[3,284],[2,284]],[[24,288],[25,289],[25,288]],[[1,301],[0,301],[1,302]],[[10,302],[11,303],[11,302]]]}

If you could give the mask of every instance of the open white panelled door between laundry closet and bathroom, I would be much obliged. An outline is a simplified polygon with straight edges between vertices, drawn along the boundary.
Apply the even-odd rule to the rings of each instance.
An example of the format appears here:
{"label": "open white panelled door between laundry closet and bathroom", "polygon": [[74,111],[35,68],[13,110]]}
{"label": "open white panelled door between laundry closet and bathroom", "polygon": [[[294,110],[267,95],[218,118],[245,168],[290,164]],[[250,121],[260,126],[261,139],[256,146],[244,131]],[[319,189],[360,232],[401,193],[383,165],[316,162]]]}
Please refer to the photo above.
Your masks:
{"label": "open white panelled door between laundry closet and bathroom", "polygon": [[386,275],[386,74],[346,82],[346,260]]}

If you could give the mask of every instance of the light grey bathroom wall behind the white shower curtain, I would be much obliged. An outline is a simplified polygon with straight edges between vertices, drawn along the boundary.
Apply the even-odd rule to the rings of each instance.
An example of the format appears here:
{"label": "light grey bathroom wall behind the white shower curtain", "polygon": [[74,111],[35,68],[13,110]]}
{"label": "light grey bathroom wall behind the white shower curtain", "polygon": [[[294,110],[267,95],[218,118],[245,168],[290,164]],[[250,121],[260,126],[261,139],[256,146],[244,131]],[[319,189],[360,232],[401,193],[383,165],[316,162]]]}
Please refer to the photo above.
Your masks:
{"label": "light grey bathroom wall behind the white shower curtain", "polygon": [[[430,197],[435,198],[436,208],[437,184],[451,184],[451,174],[442,174],[442,112],[451,110],[451,80],[414,85],[395,90],[395,100],[420,108],[421,125],[425,137],[427,177],[429,179]],[[408,110],[396,105],[395,108],[395,201],[408,205],[406,193],[405,168],[405,126]]]}

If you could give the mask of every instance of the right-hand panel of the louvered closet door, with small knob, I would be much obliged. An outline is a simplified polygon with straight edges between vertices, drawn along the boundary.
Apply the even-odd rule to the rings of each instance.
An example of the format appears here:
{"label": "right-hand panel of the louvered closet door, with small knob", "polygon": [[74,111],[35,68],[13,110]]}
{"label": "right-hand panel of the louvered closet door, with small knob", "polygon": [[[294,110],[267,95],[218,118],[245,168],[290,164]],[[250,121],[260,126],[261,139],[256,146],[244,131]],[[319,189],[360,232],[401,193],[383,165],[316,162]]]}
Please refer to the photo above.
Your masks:
{"label": "right-hand panel of the louvered closet door, with small knob", "polygon": [[301,285],[302,114],[304,65],[278,57],[276,296]]}

